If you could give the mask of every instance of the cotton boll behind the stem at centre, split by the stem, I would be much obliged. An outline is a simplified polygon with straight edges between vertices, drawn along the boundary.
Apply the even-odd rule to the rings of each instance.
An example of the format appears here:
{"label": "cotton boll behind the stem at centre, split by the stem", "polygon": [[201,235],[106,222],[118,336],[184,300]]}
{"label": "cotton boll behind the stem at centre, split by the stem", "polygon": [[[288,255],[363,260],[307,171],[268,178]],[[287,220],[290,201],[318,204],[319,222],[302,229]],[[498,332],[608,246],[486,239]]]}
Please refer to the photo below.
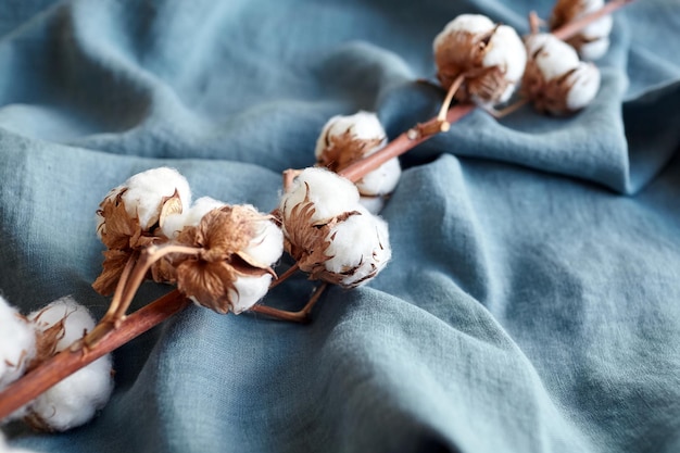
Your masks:
{"label": "cotton boll behind the stem at centre, split by the stem", "polygon": [[[386,144],[387,135],[378,116],[361,111],[328,119],[316,141],[315,155],[319,166],[338,173]],[[385,197],[394,190],[400,177],[401,165],[396,158],[366,174],[355,183],[362,204],[374,213],[379,212]]]}

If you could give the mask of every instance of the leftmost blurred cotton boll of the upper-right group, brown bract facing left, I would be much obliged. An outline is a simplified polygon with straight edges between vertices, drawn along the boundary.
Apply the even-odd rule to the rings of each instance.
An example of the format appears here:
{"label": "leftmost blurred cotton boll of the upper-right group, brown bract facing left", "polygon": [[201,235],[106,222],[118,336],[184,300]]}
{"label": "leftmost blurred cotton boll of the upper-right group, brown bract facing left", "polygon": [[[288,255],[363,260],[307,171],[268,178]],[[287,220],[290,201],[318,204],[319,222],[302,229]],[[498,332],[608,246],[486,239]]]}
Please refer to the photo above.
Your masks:
{"label": "leftmost blurred cotton boll of the upper-right group, brown bract facing left", "polygon": [[441,85],[449,89],[464,76],[455,98],[489,106],[509,99],[527,60],[512,27],[480,14],[462,14],[451,21],[435,38],[433,51]]}

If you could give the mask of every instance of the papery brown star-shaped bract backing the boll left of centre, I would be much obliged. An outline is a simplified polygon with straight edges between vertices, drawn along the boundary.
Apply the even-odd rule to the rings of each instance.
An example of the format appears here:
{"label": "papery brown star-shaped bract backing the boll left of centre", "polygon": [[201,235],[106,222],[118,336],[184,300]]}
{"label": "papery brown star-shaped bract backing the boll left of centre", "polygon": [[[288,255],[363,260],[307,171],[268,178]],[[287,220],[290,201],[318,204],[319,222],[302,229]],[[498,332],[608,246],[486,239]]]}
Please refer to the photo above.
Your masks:
{"label": "papery brown star-shaped bract backing the boll left of centre", "polygon": [[200,249],[197,255],[171,254],[152,266],[156,281],[176,282],[199,304],[227,313],[239,276],[257,277],[274,270],[243,252],[257,235],[257,223],[270,216],[244,206],[223,206],[185,228],[175,242]]}

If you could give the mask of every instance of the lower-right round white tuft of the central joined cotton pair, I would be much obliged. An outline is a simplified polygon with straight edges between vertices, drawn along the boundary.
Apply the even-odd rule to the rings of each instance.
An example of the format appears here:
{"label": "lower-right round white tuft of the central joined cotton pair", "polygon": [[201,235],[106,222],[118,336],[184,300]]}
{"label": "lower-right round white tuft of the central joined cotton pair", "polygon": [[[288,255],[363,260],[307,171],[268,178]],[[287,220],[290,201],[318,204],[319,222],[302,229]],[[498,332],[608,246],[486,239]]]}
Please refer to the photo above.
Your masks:
{"label": "lower-right round white tuft of the central joined cotton pair", "polygon": [[377,275],[392,256],[387,223],[365,209],[331,229],[330,246],[324,252],[331,256],[324,263],[328,272],[342,274],[352,272],[341,281],[342,286],[354,287]]}

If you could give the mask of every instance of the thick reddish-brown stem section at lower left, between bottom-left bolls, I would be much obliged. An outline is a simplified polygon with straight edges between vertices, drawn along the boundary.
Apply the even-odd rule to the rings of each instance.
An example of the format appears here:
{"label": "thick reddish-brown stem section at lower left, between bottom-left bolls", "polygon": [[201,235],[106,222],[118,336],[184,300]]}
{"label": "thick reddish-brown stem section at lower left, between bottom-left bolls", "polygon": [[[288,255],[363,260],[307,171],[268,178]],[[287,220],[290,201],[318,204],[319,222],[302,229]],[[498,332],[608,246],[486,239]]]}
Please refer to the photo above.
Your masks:
{"label": "thick reddish-brown stem section at lower left, between bottom-left bolls", "polygon": [[0,393],[0,419],[11,415],[60,380],[150,330],[189,304],[189,300],[182,293],[174,290],[127,316],[117,329],[102,338],[95,348],[84,349],[83,340],[76,341],[71,348],[43,362]]}

